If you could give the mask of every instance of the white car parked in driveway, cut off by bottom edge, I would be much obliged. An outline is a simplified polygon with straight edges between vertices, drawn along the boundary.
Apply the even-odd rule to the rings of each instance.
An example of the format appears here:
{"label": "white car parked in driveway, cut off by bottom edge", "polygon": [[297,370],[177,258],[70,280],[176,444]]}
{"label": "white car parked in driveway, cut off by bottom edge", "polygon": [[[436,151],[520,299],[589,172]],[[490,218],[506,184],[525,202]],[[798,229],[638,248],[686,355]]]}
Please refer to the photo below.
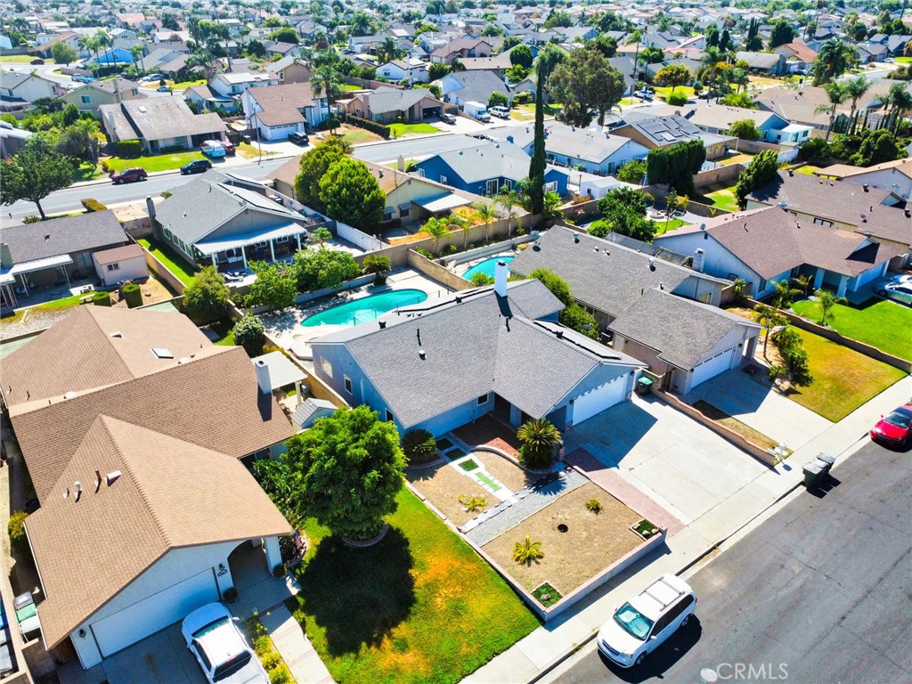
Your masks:
{"label": "white car parked in driveway, cut off by bottom edge", "polygon": [[238,622],[225,606],[210,603],[183,618],[181,634],[210,684],[269,684]]}

